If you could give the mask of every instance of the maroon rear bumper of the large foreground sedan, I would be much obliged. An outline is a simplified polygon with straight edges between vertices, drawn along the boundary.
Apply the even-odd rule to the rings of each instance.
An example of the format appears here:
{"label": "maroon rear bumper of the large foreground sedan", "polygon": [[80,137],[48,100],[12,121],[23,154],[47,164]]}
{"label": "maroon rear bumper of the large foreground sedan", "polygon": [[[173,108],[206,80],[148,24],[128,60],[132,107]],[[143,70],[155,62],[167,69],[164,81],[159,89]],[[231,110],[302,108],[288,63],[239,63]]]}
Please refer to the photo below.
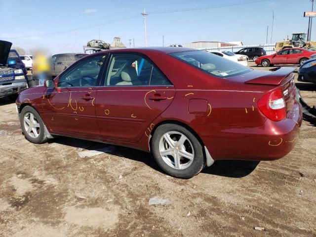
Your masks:
{"label": "maroon rear bumper of the large foreground sedan", "polygon": [[294,148],[302,123],[295,102],[288,118],[267,119],[260,127],[194,126],[213,159],[274,160]]}

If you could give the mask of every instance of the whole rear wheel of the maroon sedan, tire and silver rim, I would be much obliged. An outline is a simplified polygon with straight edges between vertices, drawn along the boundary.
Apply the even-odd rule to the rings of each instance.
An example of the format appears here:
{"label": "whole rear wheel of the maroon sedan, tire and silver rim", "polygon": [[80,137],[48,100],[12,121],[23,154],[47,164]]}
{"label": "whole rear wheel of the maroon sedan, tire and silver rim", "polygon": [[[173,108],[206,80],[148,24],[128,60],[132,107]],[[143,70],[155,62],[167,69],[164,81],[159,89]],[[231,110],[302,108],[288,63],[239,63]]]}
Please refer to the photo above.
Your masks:
{"label": "whole rear wheel of the maroon sedan, tire and silver rim", "polygon": [[152,152],[167,174],[191,178],[205,166],[203,148],[197,137],[177,124],[162,124],[154,132]]}

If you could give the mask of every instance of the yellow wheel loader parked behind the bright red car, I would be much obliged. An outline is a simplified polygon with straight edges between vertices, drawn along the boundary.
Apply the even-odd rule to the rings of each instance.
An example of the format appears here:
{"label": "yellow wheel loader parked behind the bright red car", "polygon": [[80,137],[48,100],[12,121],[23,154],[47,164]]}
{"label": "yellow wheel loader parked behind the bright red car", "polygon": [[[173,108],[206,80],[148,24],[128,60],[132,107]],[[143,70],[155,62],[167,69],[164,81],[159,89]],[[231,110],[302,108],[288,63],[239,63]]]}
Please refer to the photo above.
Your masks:
{"label": "yellow wheel loader parked behind the bright red car", "polygon": [[306,33],[293,33],[292,40],[281,40],[276,42],[275,51],[284,48],[300,47],[316,51],[316,41],[306,41]]}

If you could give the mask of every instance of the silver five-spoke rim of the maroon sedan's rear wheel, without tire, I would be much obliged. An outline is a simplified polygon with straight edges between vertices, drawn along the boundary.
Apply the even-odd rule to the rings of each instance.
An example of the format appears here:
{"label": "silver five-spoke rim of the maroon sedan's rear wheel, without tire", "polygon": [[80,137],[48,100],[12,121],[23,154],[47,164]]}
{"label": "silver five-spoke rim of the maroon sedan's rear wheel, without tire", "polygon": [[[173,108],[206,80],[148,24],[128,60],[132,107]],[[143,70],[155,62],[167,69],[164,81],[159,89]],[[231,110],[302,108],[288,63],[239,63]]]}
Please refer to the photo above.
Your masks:
{"label": "silver five-spoke rim of the maroon sedan's rear wheel, without tire", "polygon": [[186,169],[194,160],[192,143],[181,132],[163,134],[159,141],[159,152],[162,160],[174,169]]}

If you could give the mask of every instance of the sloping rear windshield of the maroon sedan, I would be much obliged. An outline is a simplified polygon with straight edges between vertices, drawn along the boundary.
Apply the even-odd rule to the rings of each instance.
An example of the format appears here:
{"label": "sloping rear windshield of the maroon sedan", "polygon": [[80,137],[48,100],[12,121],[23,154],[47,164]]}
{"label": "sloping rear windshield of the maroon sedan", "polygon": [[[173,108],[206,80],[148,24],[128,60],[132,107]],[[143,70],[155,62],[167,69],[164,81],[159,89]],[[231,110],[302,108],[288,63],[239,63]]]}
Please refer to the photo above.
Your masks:
{"label": "sloping rear windshield of the maroon sedan", "polygon": [[234,61],[201,50],[170,53],[170,55],[219,78],[234,77],[252,71]]}

